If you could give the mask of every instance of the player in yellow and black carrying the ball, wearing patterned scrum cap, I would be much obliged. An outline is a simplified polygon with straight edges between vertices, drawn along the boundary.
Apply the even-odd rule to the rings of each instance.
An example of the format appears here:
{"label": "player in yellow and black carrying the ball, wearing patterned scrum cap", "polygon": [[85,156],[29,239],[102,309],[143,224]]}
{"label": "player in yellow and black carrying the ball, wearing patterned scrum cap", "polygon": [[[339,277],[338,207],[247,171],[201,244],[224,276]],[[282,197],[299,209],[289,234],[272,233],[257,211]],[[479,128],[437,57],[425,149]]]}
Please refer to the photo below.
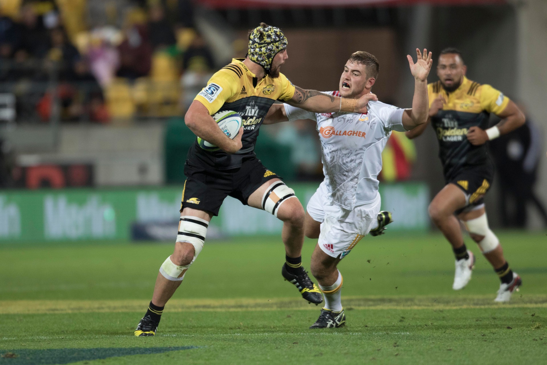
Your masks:
{"label": "player in yellow and black carrying the ball, wearing patterned scrum cap", "polygon": [[[261,23],[249,33],[247,57],[233,59],[216,72],[188,109],[185,116],[188,128],[220,150],[202,149],[196,141],[188,152],[184,165],[187,180],[174,251],[160,267],[152,301],[138,323],[136,336],[155,335],[167,300],[201,252],[208,224],[218,215],[228,195],[283,221],[286,262],[282,275],[310,303],[323,301],[321,291],[301,264],[304,208],[294,190],[262,165],[254,154],[254,145],[260,125],[276,100],[318,113],[364,113],[369,100],[377,98],[367,94],[359,99],[346,99],[294,86],[280,73],[281,65],[288,59],[286,48],[287,38],[283,32]],[[224,135],[211,117],[222,111],[235,111],[243,120],[243,127],[233,140]]]}

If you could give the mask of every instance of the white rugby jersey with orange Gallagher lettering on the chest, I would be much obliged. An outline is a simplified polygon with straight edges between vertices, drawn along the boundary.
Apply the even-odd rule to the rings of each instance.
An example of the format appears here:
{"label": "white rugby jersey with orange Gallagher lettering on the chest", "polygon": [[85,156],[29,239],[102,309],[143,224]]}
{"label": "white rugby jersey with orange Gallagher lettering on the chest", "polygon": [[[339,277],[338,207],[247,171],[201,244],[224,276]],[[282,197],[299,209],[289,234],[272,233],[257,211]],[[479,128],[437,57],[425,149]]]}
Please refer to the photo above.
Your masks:
{"label": "white rugby jersey with orange Gallagher lettering on the chest", "polygon": [[[338,91],[327,94],[339,96]],[[369,101],[361,113],[313,113],[285,104],[289,120],[317,121],[328,197],[346,209],[373,202],[382,150],[392,130],[404,132],[404,109]]]}

